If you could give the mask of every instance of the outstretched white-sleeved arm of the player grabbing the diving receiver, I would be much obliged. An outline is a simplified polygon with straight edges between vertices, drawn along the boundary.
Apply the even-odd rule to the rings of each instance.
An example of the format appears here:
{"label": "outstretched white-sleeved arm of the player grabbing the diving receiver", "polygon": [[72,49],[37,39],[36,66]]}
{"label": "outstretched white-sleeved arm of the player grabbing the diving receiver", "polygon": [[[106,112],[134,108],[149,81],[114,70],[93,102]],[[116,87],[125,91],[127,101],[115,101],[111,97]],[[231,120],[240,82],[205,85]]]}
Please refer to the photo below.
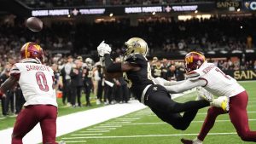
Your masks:
{"label": "outstretched white-sleeved arm of the player grabbing the diving receiver", "polygon": [[165,86],[165,88],[170,93],[176,94],[176,93],[181,93],[181,92],[189,90],[189,89],[193,89],[198,86],[204,86],[207,84],[207,81],[205,81],[204,79],[198,79],[198,80],[194,80],[194,81],[187,79],[187,80],[184,80],[181,82],[182,83],[180,83],[180,84],[176,84],[176,85],[172,85],[172,86]]}

